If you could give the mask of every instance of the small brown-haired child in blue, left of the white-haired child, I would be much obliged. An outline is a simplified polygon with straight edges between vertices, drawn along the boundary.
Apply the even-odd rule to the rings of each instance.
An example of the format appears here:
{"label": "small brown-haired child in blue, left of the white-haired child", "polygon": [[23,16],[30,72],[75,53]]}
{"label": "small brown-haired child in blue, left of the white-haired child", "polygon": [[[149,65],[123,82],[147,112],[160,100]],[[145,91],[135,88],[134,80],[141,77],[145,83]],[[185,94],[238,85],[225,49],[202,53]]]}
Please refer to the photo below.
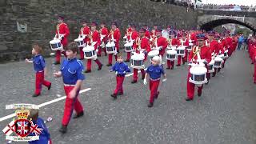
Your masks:
{"label": "small brown-haired child in blue, left of the white-haired child", "polygon": [[117,74],[117,86],[114,90],[114,94],[111,94],[111,97],[115,99],[118,95],[123,94],[122,83],[126,77],[126,73],[130,72],[130,68],[126,65],[125,62],[123,62],[122,54],[118,54],[117,62],[114,64],[114,66],[112,66],[110,71],[115,71],[115,73]]}

